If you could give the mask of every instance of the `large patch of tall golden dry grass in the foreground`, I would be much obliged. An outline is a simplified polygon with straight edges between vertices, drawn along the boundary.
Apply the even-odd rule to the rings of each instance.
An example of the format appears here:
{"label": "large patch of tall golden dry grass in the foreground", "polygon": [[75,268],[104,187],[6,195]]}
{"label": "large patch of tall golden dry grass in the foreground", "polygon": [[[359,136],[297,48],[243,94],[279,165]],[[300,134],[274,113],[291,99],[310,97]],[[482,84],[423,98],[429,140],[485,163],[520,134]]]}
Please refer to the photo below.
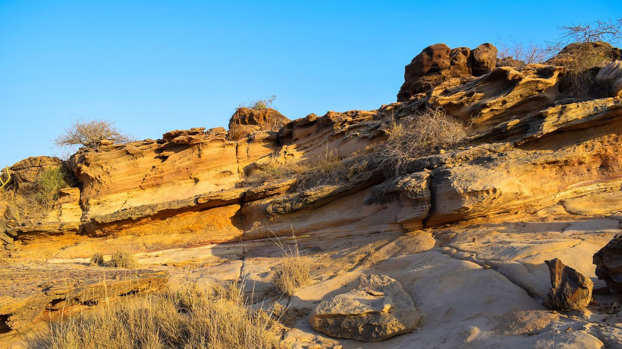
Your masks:
{"label": "large patch of tall golden dry grass in the foreground", "polygon": [[282,326],[235,284],[131,297],[53,324],[29,349],[282,349]]}

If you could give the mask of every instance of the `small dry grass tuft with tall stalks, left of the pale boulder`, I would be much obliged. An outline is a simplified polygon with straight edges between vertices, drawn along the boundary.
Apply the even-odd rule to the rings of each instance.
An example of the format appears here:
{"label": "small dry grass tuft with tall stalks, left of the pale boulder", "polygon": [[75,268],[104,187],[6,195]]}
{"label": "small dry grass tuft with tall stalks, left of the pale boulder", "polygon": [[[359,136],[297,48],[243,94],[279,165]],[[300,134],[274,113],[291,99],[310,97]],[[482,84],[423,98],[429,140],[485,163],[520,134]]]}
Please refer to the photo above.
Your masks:
{"label": "small dry grass tuft with tall stalks, left of the pale boulder", "polygon": [[281,248],[282,257],[279,264],[274,268],[272,283],[274,288],[281,293],[291,296],[294,292],[305,286],[310,281],[311,265],[309,261],[300,256],[298,242],[295,235],[293,245],[285,247],[279,238],[276,244]]}

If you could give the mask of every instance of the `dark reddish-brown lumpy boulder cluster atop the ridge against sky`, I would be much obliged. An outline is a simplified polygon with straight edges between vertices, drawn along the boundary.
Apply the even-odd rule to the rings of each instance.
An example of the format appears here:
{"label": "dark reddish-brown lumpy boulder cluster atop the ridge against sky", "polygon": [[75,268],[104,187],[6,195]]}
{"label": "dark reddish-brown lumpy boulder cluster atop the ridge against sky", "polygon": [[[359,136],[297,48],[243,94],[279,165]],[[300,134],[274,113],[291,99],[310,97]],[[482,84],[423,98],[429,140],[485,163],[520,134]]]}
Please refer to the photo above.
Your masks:
{"label": "dark reddish-brown lumpy boulder cluster atop the ridge against sky", "polygon": [[497,48],[491,43],[482,43],[475,50],[451,49],[444,43],[430,45],[404,69],[404,84],[397,101],[404,102],[416,94],[427,93],[449,78],[485,75],[496,66],[496,59]]}

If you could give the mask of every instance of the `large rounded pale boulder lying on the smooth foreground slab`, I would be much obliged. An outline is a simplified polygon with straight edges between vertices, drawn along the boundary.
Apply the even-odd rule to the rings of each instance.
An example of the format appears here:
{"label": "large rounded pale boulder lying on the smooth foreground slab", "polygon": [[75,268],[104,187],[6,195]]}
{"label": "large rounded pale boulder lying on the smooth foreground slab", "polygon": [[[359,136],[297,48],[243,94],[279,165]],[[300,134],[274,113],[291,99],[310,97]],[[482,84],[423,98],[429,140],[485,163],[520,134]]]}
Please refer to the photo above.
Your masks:
{"label": "large rounded pale boulder lying on the smooth foreground slab", "polygon": [[402,284],[386,275],[361,274],[357,289],[320,302],[309,324],[333,337],[377,342],[411,332],[420,319]]}

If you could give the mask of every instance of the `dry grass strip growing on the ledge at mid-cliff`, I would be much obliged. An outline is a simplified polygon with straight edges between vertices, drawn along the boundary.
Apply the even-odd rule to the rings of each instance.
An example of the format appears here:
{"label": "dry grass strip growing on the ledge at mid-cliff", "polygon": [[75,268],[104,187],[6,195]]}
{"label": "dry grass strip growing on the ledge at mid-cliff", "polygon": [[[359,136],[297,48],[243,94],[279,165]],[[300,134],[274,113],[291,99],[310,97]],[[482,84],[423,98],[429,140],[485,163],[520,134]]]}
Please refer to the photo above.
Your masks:
{"label": "dry grass strip growing on the ledge at mid-cliff", "polygon": [[294,189],[305,191],[325,185],[343,184],[347,182],[348,167],[338,156],[327,154],[320,156],[320,160],[312,164],[295,162],[269,161],[260,165],[247,179],[248,183],[265,184],[284,179],[297,178]]}

